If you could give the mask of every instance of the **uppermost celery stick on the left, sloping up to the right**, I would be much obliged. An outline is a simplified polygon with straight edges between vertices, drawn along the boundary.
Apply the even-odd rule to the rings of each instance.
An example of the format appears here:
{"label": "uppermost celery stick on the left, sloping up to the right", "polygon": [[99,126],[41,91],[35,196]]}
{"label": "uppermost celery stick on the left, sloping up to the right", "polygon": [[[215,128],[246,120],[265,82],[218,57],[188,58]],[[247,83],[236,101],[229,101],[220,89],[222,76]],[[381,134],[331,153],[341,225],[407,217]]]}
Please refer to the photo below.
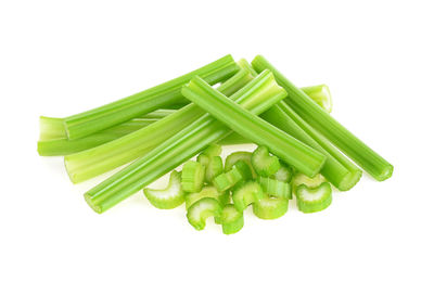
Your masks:
{"label": "uppermost celery stick on the left, sloping up to the right", "polygon": [[166,105],[184,102],[186,100],[180,94],[180,89],[196,75],[214,85],[226,80],[238,70],[239,66],[232,56],[226,55],[165,84],[116,102],[66,117],[64,124],[67,136],[71,140],[82,138]]}

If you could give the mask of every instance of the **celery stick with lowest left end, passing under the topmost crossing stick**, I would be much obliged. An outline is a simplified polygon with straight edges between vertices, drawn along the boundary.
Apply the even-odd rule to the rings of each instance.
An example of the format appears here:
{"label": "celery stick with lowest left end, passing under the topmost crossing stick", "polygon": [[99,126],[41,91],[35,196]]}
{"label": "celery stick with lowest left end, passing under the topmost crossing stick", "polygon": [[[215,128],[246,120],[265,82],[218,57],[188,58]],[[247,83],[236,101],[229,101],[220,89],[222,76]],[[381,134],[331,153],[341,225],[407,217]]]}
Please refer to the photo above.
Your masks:
{"label": "celery stick with lowest left end, passing under the topmost crossing stick", "polygon": [[[284,95],[271,73],[266,70],[231,99],[252,113],[260,114],[260,111],[266,111]],[[144,156],[86,192],[85,200],[89,206],[97,213],[107,210],[231,132],[209,114],[189,123],[188,127]]]}

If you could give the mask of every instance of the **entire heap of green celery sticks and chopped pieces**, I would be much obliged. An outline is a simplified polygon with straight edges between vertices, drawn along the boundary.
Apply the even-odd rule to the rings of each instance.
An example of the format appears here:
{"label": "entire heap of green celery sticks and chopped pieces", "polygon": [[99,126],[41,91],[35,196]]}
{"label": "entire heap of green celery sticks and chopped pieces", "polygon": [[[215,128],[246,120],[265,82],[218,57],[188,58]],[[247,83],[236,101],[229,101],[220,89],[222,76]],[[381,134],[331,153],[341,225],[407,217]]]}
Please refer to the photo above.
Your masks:
{"label": "entire heap of green celery sticks and chopped pieces", "polygon": [[[85,193],[97,213],[143,190],[157,208],[186,203],[195,229],[214,217],[232,234],[248,205],[257,217],[275,219],[294,196],[301,211],[316,213],[331,204],[332,187],[356,185],[361,169],[378,181],[392,176],[393,166],[331,110],[326,85],[297,88],[261,55],[251,64],[226,55],[77,115],[41,116],[38,152],[65,156],[74,183],[130,163]],[[221,145],[243,143],[258,146],[224,162]],[[146,188],[170,171],[166,189]]]}

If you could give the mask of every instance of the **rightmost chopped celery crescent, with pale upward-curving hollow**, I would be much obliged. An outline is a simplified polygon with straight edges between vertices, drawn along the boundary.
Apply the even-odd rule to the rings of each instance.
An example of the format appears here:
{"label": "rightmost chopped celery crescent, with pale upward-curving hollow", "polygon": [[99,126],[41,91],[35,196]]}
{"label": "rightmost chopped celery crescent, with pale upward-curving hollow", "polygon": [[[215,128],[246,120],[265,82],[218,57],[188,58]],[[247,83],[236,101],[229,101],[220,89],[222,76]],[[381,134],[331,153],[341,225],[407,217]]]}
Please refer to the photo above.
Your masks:
{"label": "rightmost chopped celery crescent, with pale upward-curving hollow", "polygon": [[316,213],[326,209],[332,203],[332,189],[329,182],[308,188],[301,184],[296,189],[297,207],[303,213]]}

